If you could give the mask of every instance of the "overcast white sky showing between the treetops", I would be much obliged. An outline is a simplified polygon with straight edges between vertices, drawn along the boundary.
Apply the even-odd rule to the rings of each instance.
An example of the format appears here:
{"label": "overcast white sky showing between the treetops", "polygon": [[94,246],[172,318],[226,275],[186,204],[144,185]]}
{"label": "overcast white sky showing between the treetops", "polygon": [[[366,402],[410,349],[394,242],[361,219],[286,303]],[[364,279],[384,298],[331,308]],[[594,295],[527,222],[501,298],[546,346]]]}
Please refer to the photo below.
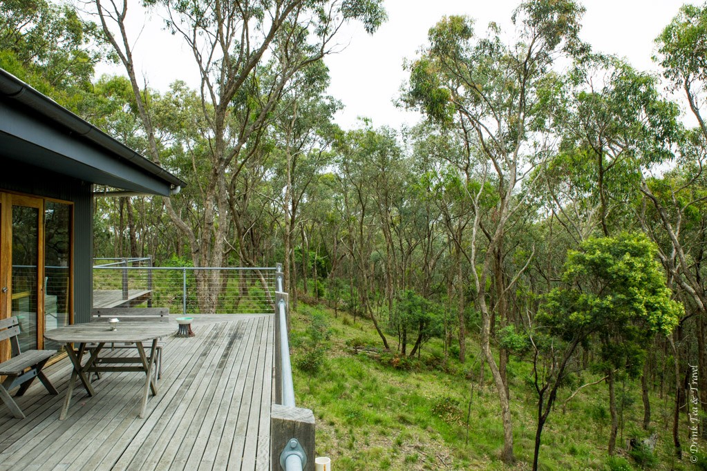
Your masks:
{"label": "overcast white sky showing between the treetops", "polygon": [[[389,19],[373,36],[359,25],[343,28],[339,43],[348,45],[326,59],[332,79],[329,94],[345,105],[337,114],[339,125],[344,129],[356,127],[358,117],[373,119],[374,126],[385,124],[399,128],[402,124],[415,124],[419,117],[397,109],[392,100],[406,79],[402,69],[404,59],[416,56],[416,51],[426,42],[429,28],[442,16],[465,14],[475,18],[479,32],[486,29],[489,21],[496,21],[505,32],[511,32],[510,15],[518,3],[518,0],[386,0]],[[641,70],[656,70],[650,59],[653,40],[684,3],[680,0],[585,0],[587,11],[580,35],[596,51],[624,56]],[[141,21],[136,23],[142,26]],[[158,90],[166,90],[177,78],[196,88],[198,76],[192,67],[191,55],[181,49],[175,37],[160,31],[162,24],[159,18],[146,19],[134,46],[136,69]],[[184,59],[175,60],[180,55]],[[122,73],[119,68],[112,70]]]}

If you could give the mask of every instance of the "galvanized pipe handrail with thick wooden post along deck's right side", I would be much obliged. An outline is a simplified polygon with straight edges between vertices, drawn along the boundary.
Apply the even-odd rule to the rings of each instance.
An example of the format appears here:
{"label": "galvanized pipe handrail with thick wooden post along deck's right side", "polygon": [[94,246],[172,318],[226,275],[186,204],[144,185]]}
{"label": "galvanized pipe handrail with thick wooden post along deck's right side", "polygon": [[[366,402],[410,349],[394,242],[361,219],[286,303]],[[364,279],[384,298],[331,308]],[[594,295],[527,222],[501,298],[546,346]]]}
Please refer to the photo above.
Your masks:
{"label": "galvanized pipe handrail with thick wooden post along deck's right side", "polygon": [[[314,470],[315,422],[309,409],[295,404],[290,362],[289,303],[281,266],[275,273],[275,398],[270,412],[270,463],[273,470]],[[277,465],[279,464],[279,467]]]}

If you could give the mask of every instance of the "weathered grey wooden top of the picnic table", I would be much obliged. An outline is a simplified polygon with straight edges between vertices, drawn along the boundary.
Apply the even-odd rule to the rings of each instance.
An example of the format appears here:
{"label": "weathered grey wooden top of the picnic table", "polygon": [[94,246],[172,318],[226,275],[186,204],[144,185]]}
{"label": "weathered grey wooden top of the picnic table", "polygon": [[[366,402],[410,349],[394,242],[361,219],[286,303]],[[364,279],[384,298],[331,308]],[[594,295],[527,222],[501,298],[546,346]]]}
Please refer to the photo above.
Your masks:
{"label": "weathered grey wooden top of the picnic table", "polygon": [[47,340],[54,342],[147,342],[177,333],[176,323],[167,322],[119,322],[117,330],[111,330],[107,322],[89,322],[64,326],[45,332]]}

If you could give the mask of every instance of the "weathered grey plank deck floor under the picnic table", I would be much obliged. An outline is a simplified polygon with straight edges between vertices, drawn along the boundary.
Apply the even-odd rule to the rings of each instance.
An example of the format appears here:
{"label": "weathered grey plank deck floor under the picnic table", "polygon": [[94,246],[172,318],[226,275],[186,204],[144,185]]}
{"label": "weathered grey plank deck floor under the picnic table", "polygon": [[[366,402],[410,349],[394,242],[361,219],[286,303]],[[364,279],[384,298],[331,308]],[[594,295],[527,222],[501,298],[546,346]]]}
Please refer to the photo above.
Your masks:
{"label": "weathered grey plank deck floor under the picnic table", "polygon": [[274,316],[194,316],[192,329],[163,342],[145,419],[144,375],[110,373],[93,397],[77,386],[59,421],[71,366],[47,367],[59,395],[35,381],[17,398],[26,419],[0,404],[0,470],[269,470]]}

